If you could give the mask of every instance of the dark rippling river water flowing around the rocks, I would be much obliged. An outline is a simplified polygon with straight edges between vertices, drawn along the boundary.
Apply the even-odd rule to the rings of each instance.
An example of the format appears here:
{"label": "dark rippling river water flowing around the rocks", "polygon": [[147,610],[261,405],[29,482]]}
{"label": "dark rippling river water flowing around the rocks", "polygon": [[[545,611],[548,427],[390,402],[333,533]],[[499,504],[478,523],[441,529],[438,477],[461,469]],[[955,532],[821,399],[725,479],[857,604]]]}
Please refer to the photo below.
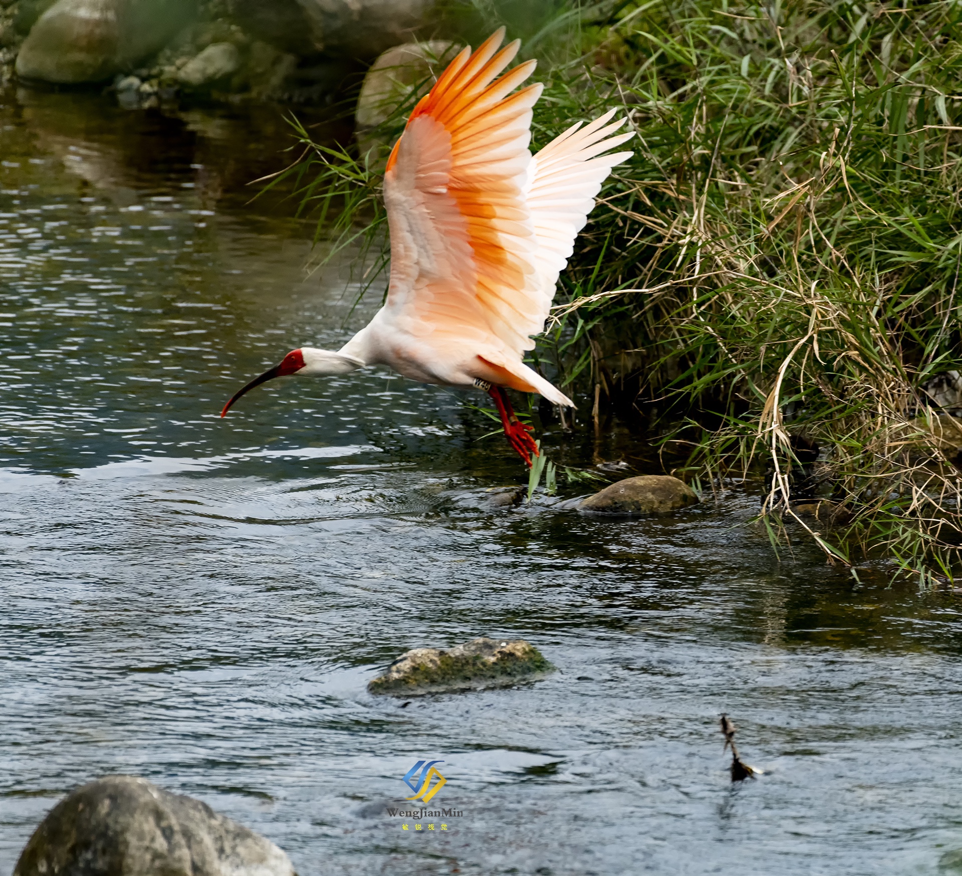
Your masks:
{"label": "dark rippling river water flowing around the rocks", "polygon": [[[117,772],[301,876],[934,873],[962,847],[957,597],[779,562],[735,491],[662,520],[495,508],[523,474],[491,424],[379,371],[219,420],[370,310],[347,271],[305,275],[290,206],[244,205],[285,161],[279,114],[0,102],[0,872]],[[624,454],[586,428],[545,445]],[[561,671],[367,695],[408,648],[479,634]],[[730,784],[721,711],[757,781]],[[419,759],[463,815],[418,832],[386,807]]]}

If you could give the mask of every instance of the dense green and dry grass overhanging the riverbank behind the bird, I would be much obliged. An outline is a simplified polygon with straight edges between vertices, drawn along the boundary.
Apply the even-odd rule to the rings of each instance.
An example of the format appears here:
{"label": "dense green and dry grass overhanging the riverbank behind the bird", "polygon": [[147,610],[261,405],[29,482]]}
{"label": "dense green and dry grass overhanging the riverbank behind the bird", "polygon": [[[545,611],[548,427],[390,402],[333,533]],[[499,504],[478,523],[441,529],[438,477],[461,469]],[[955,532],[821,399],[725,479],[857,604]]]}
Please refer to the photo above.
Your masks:
{"label": "dense green and dry grass overhanging the riverbank behind the bird", "polygon": [[[962,559],[962,428],[921,390],[962,361],[960,15],[620,2],[529,43],[533,148],[614,103],[638,132],[539,364],[583,411],[645,412],[703,488],[763,482],[776,542],[807,532],[831,561],[887,556],[925,585]],[[315,195],[346,183],[342,221],[381,216],[346,155],[301,169]]]}

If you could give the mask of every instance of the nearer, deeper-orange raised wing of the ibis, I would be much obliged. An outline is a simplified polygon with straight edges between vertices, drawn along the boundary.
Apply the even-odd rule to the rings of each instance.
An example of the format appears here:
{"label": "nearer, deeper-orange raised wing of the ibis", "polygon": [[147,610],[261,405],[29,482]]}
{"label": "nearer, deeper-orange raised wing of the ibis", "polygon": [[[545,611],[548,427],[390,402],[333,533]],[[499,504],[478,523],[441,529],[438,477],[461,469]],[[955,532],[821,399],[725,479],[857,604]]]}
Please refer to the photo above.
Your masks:
{"label": "nearer, deeper-orange raised wing of the ibis", "polygon": [[385,173],[391,229],[387,306],[415,334],[477,337],[520,352],[537,322],[534,229],[523,189],[531,107],[512,94],[534,69],[497,51],[503,30],[444,71],[408,120]]}

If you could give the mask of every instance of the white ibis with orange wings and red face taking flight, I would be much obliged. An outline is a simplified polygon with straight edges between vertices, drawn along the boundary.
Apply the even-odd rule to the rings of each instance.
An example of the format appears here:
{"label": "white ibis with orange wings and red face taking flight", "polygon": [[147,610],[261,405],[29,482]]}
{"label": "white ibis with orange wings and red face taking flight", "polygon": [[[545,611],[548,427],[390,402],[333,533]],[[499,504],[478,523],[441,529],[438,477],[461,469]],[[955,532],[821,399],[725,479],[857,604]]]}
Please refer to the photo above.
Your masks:
{"label": "white ibis with orange wings and red face taking flight", "polygon": [[[515,91],[534,61],[498,74],[519,40],[498,51],[504,29],[464,49],[415,107],[384,175],[391,232],[388,297],[336,352],[302,347],[255,377],[224,405],[274,377],[346,374],[387,365],[424,383],[480,389],[494,399],[504,433],[531,465],[538,448],[505,392],[540,393],[573,407],[522,361],[544,331],[558,274],[611,168],[611,110],[528,151],[540,84]],[[512,93],[514,91],[514,93]],[[602,154],[607,153],[607,154]]]}

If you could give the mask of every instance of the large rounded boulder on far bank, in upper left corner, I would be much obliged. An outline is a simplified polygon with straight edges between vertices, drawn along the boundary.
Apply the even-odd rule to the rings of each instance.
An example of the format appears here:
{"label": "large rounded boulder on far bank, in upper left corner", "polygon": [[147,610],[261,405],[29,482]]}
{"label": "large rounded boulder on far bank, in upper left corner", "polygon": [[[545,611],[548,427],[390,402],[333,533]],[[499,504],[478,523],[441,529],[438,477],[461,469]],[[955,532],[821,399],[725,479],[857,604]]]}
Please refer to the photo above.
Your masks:
{"label": "large rounded boulder on far bank, in upper left corner", "polygon": [[16,73],[100,82],[156,52],[193,13],[190,0],[57,0],[20,46]]}

